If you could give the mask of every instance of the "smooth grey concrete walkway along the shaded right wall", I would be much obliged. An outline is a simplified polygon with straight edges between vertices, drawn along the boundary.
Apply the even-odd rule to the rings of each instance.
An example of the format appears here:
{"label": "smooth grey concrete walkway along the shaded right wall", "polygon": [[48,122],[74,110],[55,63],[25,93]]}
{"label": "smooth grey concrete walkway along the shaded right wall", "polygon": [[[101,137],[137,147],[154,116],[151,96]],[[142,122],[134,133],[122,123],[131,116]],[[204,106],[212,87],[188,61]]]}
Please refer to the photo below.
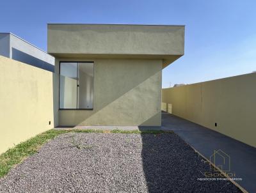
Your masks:
{"label": "smooth grey concrete walkway along the shaded right wall", "polygon": [[162,112],[161,128],[173,130],[208,159],[214,150],[222,150],[227,153],[230,156],[230,170],[236,175],[233,178],[243,179],[236,183],[248,192],[256,192],[256,148],[209,128],[173,116],[168,112]]}

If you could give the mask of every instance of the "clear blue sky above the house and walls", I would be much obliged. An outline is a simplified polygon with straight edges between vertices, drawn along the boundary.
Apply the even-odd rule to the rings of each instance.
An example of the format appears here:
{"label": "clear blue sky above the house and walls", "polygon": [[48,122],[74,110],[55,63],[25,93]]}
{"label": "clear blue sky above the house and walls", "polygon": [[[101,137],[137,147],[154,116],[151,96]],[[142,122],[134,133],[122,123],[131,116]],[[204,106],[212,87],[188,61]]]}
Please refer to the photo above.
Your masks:
{"label": "clear blue sky above the house and walls", "polygon": [[185,55],[163,70],[163,87],[256,70],[256,1],[2,1],[0,31],[47,50],[47,23],[185,25]]}

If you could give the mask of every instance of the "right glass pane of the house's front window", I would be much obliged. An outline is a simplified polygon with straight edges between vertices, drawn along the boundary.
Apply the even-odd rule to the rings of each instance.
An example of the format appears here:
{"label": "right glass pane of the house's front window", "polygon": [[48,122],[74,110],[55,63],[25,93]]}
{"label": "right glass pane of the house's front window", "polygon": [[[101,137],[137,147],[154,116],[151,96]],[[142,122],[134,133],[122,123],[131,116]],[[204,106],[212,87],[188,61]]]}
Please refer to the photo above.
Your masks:
{"label": "right glass pane of the house's front window", "polygon": [[78,63],[78,109],[93,109],[93,63]]}

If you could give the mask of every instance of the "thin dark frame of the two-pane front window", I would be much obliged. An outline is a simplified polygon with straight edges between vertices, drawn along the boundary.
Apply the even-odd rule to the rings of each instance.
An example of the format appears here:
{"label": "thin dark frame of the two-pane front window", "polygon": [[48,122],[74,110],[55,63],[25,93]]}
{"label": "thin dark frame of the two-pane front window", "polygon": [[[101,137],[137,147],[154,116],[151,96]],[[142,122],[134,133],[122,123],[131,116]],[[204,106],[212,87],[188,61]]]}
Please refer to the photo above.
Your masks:
{"label": "thin dark frame of the two-pane front window", "polygon": [[[93,63],[93,96],[94,96],[94,61],[59,61],[59,111],[74,111],[74,110],[79,110],[79,111],[92,111],[94,107],[94,100],[92,102],[92,109],[61,109],[60,108],[60,65],[61,63],[77,63],[77,75],[78,75],[78,63]],[[76,80],[77,81],[77,80]],[[77,90],[76,90],[77,92]],[[77,96],[76,96],[76,102],[77,102]]]}

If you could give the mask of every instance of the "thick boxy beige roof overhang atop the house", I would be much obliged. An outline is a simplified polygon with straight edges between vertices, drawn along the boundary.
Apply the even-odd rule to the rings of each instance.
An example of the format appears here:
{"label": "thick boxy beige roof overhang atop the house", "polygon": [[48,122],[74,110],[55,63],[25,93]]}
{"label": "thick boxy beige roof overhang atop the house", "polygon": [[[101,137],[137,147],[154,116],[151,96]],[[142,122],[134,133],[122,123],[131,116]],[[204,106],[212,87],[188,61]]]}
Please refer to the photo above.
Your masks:
{"label": "thick boxy beige roof overhang atop the house", "polygon": [[56,58],[163,59],[184,55],[184,26],[48,24],[47,49]]}

